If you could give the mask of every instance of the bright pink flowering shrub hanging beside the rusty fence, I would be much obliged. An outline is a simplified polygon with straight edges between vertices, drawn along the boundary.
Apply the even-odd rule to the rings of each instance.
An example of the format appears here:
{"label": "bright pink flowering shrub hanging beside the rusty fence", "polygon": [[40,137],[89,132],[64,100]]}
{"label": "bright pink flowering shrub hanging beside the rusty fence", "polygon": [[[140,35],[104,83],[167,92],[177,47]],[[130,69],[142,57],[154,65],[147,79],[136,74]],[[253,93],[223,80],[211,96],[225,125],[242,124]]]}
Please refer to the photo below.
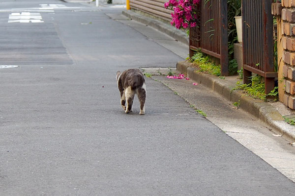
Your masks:
{"label": "bright pink flowering shrub hanging beside the rusty fence", "polygon": [[197,4],[201,0],[169,0],[165,8],[174,10],[171,13],[171,25],[176,28],[189,28],[197,25]]}

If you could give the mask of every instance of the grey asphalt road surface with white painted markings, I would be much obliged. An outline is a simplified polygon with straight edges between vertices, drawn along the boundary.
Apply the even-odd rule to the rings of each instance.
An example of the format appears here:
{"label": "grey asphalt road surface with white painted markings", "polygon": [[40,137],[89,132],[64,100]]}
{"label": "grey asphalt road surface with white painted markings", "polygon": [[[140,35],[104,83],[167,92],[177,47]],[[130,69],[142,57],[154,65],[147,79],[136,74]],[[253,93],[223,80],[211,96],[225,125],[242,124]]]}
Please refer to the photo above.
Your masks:
{"label": "grey asphalt road surface with white painted markings", "polygon": [[0,63],[19,67],[0,69],[0,195],[293,195],[159,82],[146,78],[146,115],[137,100],[123,112],[117,70],[182,58],[107,15],[120,11],[1,0]]}

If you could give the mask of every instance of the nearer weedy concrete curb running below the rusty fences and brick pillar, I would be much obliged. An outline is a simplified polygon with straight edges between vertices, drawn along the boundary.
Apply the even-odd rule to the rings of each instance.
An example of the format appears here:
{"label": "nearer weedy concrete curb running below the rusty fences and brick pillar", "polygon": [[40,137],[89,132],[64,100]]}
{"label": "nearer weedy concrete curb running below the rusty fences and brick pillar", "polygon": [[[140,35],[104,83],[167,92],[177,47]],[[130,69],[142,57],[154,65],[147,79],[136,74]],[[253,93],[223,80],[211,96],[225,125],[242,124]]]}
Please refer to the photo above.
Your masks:
{"label": "nearer weedy concrete curb running below the rusty fences and brick pillar", "polygon": [[[245,96],[242,94],[241,90],[232,90],[236,86],[233,76],[227,77],[229,79],[222,80],[206,73],[196,73],[195,70],[192,64],[187,61],[180,61],[177,63],[177,72],[187,73],[190,79],[217,92],[231,102],[240,101],[241,109],[267,123],[271,128],[277,130],[281,134],[295,140],[294,126],[286,123],[283,116],[272,105],[262,100]],[[234,76],[234,78],[236,78],[236,76]]]}

